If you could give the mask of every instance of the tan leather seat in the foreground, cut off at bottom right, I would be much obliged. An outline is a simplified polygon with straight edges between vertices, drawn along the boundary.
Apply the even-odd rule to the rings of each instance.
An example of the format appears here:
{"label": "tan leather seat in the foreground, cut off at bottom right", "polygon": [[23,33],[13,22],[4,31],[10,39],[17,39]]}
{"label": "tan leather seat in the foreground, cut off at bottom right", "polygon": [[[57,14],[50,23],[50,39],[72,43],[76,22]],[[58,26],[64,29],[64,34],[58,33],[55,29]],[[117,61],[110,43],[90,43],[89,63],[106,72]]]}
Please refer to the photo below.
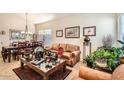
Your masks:
{"label": "tan leather seat in the foreground, cut off at bottom right", "polygon": [[118,66],[112,74],[81,66],[79,75],[72,80],[124,80],[124,64]]}

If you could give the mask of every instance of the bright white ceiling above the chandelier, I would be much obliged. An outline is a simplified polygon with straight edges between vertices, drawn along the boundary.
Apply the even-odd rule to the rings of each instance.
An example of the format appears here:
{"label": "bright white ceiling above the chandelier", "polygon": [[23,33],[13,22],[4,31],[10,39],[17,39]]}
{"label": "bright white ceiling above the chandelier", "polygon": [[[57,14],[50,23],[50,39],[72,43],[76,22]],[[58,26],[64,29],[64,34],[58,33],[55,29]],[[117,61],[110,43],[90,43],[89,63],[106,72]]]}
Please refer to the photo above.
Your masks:
{"label": "bright white ceiling above the chandelier", "polygon": [[[16,13],[16,15],[26,18],[25,13]],[[40,24],[52,20],[57,20],[66,16],[71,16],[73,13],[28,13],[28,21],[33,24]]]}

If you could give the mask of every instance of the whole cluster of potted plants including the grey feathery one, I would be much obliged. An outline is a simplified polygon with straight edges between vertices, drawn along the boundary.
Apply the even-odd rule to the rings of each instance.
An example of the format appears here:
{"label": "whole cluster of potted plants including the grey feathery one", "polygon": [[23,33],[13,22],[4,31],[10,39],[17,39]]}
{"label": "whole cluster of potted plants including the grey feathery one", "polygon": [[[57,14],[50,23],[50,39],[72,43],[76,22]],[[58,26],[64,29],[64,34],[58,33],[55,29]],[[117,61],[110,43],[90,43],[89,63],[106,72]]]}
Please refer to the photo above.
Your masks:
{"label": "whole cluster of potted plants including the grey feathery one", "polygon": [[[111,35],[104,36],[102,39],[103,46],[84,59],[87,66],[95,68],[102,63],[112,72],[120,64],[120,58],[124,56],[124,47],[112,47],[113,41]],[[124,45],[124,42],[120,43]]]}

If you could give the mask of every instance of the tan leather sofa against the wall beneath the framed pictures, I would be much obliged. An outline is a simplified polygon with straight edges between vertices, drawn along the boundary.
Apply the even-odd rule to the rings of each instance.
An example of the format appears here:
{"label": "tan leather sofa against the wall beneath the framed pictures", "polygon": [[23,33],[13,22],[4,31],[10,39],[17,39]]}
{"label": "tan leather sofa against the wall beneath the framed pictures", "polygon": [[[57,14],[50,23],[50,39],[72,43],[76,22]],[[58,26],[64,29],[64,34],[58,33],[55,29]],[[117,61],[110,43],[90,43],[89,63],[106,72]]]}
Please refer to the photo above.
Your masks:
{"label": "tan leather sofa against the wall beneath the framed pictures", "polygon": [[69,66],[74,66],[77,62],[80,61],[80,47],[72,44],[52,44],[47,47],[47,50],[57,52],[58,48],[62,47],[64,50],[63,58],[66,59],[66,64]]}

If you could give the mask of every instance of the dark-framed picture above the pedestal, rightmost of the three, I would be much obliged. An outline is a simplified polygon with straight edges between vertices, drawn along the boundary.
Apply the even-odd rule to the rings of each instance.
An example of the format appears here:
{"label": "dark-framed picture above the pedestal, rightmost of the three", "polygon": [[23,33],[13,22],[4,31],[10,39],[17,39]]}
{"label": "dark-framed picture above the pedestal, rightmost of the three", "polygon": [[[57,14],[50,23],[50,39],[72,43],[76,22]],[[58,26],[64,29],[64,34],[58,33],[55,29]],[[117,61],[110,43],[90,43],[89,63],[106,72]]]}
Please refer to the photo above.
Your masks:
{"label": "dark-framed picture above the pedestal, rightmost of the three", "polygon": [[83,36],[96,36],[96,26],[84,27]]}

